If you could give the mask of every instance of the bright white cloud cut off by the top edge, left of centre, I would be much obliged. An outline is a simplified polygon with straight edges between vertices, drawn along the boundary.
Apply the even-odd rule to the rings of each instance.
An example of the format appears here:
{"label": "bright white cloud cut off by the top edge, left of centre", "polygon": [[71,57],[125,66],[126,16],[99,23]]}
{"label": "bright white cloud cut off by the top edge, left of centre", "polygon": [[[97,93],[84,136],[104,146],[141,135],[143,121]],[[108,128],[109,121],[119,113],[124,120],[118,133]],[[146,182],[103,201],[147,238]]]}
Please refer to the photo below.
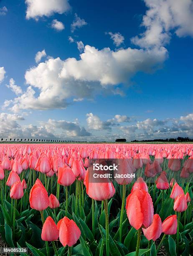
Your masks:
{"label": "bright white cloud cut off by the top edge, left of centre", "polygon": [[25,0],[27,5],[26,18],[36,19],[51,16],[54,13],[66,13],[70,10],[68,0]]}

